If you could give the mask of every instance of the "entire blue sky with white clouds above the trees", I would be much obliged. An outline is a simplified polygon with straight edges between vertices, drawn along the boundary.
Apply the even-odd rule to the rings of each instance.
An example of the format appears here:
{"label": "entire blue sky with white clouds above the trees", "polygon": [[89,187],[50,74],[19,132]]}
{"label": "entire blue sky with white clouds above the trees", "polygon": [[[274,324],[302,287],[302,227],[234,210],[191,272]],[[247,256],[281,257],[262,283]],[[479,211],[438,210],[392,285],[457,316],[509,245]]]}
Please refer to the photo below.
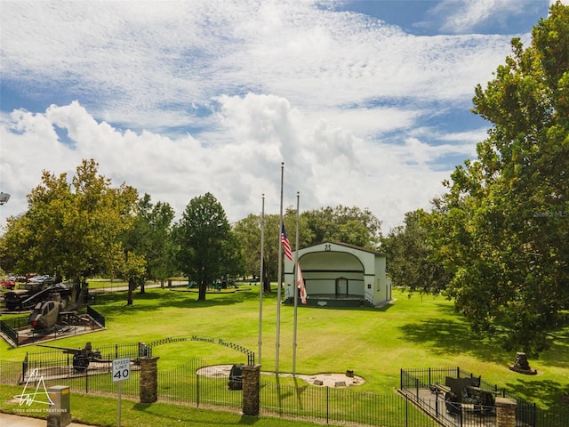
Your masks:
{"label": "entire blue sky with white clouds above the trees", "polygon": [[[567,1],[564,2],[567,4]],[[231,222],[429,208],[490,124],[470,113],[549,0],[0,0],[0,210],[83,158],[178,215],[211,192]]]}

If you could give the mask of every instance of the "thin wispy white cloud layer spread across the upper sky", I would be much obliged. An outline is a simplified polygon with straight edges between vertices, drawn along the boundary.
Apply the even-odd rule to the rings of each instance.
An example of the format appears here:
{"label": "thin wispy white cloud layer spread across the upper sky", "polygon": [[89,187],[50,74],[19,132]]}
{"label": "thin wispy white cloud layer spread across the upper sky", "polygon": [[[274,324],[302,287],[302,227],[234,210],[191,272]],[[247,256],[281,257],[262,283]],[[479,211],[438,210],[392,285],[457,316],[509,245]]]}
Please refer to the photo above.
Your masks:
{"label": "thin wispy white cloud layer spread across the upper sky", "polygon": [[7,2],[2,24],[4,78],[66,85],[95,117],[154,130],[203,125],[192,106],[220,93],[307,110],[454,102],[509,52],[508,36],[410,36],[296,1]]}

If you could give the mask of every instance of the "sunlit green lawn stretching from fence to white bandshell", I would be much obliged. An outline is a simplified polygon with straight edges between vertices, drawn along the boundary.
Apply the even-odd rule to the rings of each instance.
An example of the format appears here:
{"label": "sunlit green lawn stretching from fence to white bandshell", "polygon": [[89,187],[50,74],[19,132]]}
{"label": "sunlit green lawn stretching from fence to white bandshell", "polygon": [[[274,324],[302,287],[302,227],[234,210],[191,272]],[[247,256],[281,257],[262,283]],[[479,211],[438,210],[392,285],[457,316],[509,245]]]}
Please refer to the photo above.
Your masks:
{"label": "sunlit green lawn stretching from fence to white bandshell", "polygon": [[[515,352],[502,350],[498,338],[469,333],[452,302],[397,290],[394,297],[397,301],[382,309],[299,307],[297,373],[315,375],[350,369],[365,378],[358,391],[383,393],[397,388],[401,368],[461,367],[541,407],[567,406],[569,327],[556,335],[551,349],[540,359],[530,359],[538,375],[520,375],[508,369]],[[263,296],[260,355],[258,286],[244,284],[239,292],[212,293],[205,302],[196,300],[196,293],[184,287],[137,292],[132,306],[125,305],[125,292],[100,294],[94,308],[105,316],[107,330],[52,344],[79,348],[90,341],[97,348],[196,334],[243,345],[255,351],[263,371],[275,370],[276,292]],[[280,332],[279,372],[288,373],[293,369],[293,307],[281,306]],[[4,342],[0,359],[21,360],[27,351],[36,350],[40,349],[11,349]],[[211,365],[246,362],[244,354],[207,342],[169,343],[157,347],[154,355],[160,357],[160,369],[179,367],[192,358]]]}

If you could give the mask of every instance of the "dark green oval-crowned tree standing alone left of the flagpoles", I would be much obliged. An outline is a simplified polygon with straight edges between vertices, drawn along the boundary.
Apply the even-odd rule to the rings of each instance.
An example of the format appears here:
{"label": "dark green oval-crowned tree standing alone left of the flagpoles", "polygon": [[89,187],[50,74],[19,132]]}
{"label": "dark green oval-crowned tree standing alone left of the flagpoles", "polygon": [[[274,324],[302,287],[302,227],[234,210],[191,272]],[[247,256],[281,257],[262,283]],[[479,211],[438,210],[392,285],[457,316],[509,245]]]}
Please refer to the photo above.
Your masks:
{"label": "dark green oval-crowned tree standing alone left of the flagpoles", "polygon": [[211,193],[192,198],[174,230],[180,270],[198,283],[199,301],[215,280],[243,272],[238,241]]}

